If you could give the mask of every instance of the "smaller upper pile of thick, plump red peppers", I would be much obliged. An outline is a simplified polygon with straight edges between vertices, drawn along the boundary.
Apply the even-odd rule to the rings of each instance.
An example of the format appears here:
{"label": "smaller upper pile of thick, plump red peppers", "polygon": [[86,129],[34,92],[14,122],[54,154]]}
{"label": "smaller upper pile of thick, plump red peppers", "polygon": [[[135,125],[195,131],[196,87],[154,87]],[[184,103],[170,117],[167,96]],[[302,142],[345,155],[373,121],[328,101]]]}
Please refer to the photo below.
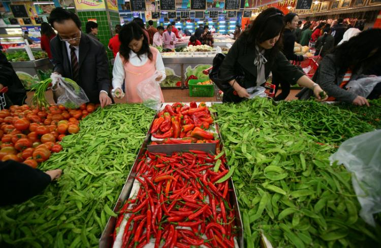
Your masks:
{"label": "smaller upper pile of thick, plump red peppers", "polygon": [[166,139],[164,144],[210,143],[214,140],[214,134],[205,131],[213,123],[205,102],[198,106],[194,101],[189,106],[180,102],[167,104],[157,116],[151,133],[155,138]]}

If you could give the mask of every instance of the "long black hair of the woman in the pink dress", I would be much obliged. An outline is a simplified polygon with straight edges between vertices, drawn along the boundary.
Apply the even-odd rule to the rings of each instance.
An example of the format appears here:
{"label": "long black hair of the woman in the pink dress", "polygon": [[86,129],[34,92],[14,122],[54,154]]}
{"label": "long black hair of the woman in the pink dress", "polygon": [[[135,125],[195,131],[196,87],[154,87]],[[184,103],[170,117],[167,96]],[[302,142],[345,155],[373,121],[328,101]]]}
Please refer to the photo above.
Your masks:
{"label": "long black hair of the woman in the pink dress", "polygon": [[151,50],[149,49],[148,39],[145,36],[143,29],[136,22],[130,22],[129,24],[123,25],[119,31],[119,41],[120,48],[119,54],[124,58],[127,62],[130,59],[130,52],[132,51],[129,48],[129,44],[132,40],[140,40],[143,37],[142,48],[136,54],[138,58],[139,55],[147,54],[147,57],[152,60],[153,56]]}

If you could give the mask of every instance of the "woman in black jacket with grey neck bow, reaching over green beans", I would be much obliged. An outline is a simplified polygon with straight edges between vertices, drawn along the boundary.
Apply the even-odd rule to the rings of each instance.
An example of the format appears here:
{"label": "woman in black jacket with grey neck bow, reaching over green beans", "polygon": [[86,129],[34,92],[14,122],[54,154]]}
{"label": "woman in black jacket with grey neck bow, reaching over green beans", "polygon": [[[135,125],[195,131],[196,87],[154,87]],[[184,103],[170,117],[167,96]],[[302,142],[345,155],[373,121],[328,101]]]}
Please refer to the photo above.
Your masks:
{"label": "woman in black jacket with grey neck bow, reaching over green beans", "polygon": [[218,77],[229,83],[224,102],[239,102],[249,97],[247,88],[266,82],[270,71],[291,83],[312,89],[316,98],[322,88],[312,82],[279,51],[283,13],[269,8],[258,15],[250,30],[241,34],[220,66]]}

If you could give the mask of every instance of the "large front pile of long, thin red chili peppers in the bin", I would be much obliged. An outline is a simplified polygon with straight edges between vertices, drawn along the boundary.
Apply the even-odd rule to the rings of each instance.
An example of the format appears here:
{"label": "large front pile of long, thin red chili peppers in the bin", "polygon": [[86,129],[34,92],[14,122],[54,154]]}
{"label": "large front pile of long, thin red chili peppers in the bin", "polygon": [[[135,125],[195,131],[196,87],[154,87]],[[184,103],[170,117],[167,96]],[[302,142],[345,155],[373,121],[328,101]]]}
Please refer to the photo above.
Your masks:
{"label": "large front pile of long, thin red chili peppers in the bin", "polygon": [[121,208],[114,240],[129,214],[123,248],[144,247],[151,238],[154,247],[235,247],[229,180],[216,183],[229,169],[223,156],[214,172],[214,157],[194,150],[172,156],[146,152],[136,167],[140,189]]}

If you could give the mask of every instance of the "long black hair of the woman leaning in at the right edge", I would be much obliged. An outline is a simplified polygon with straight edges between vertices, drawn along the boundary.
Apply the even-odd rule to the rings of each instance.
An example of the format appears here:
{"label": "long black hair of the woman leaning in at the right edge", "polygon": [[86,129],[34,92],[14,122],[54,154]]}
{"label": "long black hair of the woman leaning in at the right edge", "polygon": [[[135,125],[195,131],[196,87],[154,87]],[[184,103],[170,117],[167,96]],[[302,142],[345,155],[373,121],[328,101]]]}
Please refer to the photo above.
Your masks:
{"label": "long black hair of the woman leaning in at the right edge", "polygon": [[372,65],[381,57],[381,29],[373,28],[362,31],[357,36],[343,42],[333,49],[335,63],[339,73],[345,73],[348,68],[357,72],[361,67]]}

